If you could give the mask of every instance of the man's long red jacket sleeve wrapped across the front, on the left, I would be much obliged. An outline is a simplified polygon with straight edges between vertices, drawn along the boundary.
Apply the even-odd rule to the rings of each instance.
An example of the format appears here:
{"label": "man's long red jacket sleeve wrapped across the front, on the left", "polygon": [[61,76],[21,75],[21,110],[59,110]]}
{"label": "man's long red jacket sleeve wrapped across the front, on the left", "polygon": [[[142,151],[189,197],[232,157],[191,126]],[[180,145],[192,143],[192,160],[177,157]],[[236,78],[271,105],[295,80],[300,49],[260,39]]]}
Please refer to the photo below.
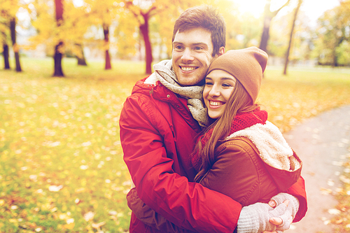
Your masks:
{"label": "man's long red jacket sleeve wrapped across the front, on the left", "polygon": [[[124,160],[140,199],[179,227],[198,232],[234,232],[241,204],[172,169],[165,135],[154,125],[154,108],[140,97],[129,97],[120,114],[120,140]],[[142,108],[141,108],[142,106]],[[151,114],[151,115],[148,115]]]}

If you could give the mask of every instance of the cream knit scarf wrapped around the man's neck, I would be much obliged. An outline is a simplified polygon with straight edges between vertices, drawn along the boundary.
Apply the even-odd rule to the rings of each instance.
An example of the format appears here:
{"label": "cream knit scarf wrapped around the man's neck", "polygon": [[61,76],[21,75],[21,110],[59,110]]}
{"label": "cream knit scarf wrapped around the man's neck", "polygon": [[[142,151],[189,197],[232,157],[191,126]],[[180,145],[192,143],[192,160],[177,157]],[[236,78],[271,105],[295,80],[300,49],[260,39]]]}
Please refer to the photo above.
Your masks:
{"label": "cream knit scarf wrapped around the man's neck", "polygon": [[160,83],[165,85],[169,90],[186,98],[188,109],[190,109],[193,118],[195,118],[202,127],[209,125],[207,108],[204,107],[202,102],[204,86],[181,86],[174,70],[172,69],[172,59],[164,60],[153,65],[153,69],[155,72],[152,73],[150,79],[155,78],[156,80],[159,80]]}

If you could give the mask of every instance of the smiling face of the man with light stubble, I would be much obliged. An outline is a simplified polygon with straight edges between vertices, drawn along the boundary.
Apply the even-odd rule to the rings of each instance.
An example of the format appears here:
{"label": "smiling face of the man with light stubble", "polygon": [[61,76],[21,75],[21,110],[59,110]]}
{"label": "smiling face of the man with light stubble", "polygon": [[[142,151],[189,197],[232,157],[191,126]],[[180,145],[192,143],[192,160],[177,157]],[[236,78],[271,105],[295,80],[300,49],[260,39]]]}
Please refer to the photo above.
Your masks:
{"label": "smiling face of the man with light stubble", "polygon": [[197,28],[175,34],[172,66],[181,85],[195,85],[207,74],[215,57],[211,32]]}

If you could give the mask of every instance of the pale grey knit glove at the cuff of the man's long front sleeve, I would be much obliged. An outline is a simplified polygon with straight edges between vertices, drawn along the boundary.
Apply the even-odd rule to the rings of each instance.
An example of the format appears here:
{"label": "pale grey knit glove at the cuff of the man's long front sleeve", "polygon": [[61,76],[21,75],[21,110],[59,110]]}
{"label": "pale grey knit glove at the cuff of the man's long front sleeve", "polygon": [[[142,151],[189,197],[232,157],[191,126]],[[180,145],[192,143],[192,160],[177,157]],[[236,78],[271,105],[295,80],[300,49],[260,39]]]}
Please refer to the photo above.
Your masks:
{"label": "pale grey knit glove at the cuff of the man's long front sleeve", "polygon": [[[285,215],[290,217],[290,213],[286,213],[286,209],[287,206],[283,203],[277,205],[276,208],[272,208],[269,204],[260,202],[244,206],[239,215],[237,232],[260,233],[263,231],[275,231],[277,230],[277,227],[272,223],[269,223],[269,219],[273,217],[281,218],[281,216]],[[283,223],[288,223],[288,220],[283,220]],[[284,228],[285,226],[283,223],[282,225]],[[277,230],[277,232],[280,233],[281,231]]]}

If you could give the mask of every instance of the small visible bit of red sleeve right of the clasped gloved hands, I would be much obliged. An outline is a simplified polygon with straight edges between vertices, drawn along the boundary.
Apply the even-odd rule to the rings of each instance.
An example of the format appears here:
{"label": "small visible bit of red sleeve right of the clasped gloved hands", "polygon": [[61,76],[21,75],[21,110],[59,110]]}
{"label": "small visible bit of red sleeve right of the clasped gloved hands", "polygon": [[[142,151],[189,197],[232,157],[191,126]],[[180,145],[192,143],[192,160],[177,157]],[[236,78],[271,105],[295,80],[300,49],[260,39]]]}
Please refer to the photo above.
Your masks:
{"label": "small visible bit of red sleeve right of the clasped gloved hands", "polygon": [[305,190],[304,178],[300,176],[297,183],[290,186],[290,188],[288,188],[286,192],[290,195],[293,195],[299,200],[299,210],[297,211],[293,223],[299,222],[300,220],[302,220],[302,218],[304,218],[307,212],[307,195]]}

